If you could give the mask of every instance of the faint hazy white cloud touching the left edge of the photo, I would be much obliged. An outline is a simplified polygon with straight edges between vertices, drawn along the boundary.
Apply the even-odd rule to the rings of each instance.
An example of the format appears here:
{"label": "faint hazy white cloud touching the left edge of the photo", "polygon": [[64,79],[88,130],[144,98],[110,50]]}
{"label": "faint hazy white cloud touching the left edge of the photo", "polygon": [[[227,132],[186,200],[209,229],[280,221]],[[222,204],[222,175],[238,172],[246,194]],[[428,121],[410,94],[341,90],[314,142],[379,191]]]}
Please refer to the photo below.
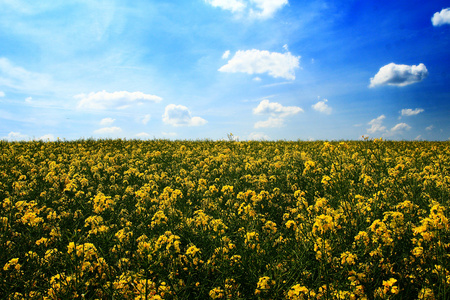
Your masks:
{"label": "faint hazy white cloud touching the left edge of the photo", "polygon": [[51,84],[50,76],[30,72],[0,57],[0,85],[17,90],[42,90]]}

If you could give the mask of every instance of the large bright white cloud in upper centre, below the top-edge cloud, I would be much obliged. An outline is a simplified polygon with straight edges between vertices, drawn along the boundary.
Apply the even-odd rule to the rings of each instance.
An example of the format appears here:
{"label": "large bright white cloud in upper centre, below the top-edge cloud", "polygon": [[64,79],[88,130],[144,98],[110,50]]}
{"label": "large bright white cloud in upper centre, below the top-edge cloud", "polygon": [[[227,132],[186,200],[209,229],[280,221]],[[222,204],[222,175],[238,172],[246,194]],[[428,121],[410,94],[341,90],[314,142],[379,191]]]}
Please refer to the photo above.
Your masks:
{"label": "large bright white cloud in upper centre, below the top-edge cloud", "polygon": [[220,72],[262,74],[268,73],[277,78],[295,79],[295,69],[300,65],[300,56],[293,56],[290,52],[278,53],[266,50],[239,50],[222,66]]}

